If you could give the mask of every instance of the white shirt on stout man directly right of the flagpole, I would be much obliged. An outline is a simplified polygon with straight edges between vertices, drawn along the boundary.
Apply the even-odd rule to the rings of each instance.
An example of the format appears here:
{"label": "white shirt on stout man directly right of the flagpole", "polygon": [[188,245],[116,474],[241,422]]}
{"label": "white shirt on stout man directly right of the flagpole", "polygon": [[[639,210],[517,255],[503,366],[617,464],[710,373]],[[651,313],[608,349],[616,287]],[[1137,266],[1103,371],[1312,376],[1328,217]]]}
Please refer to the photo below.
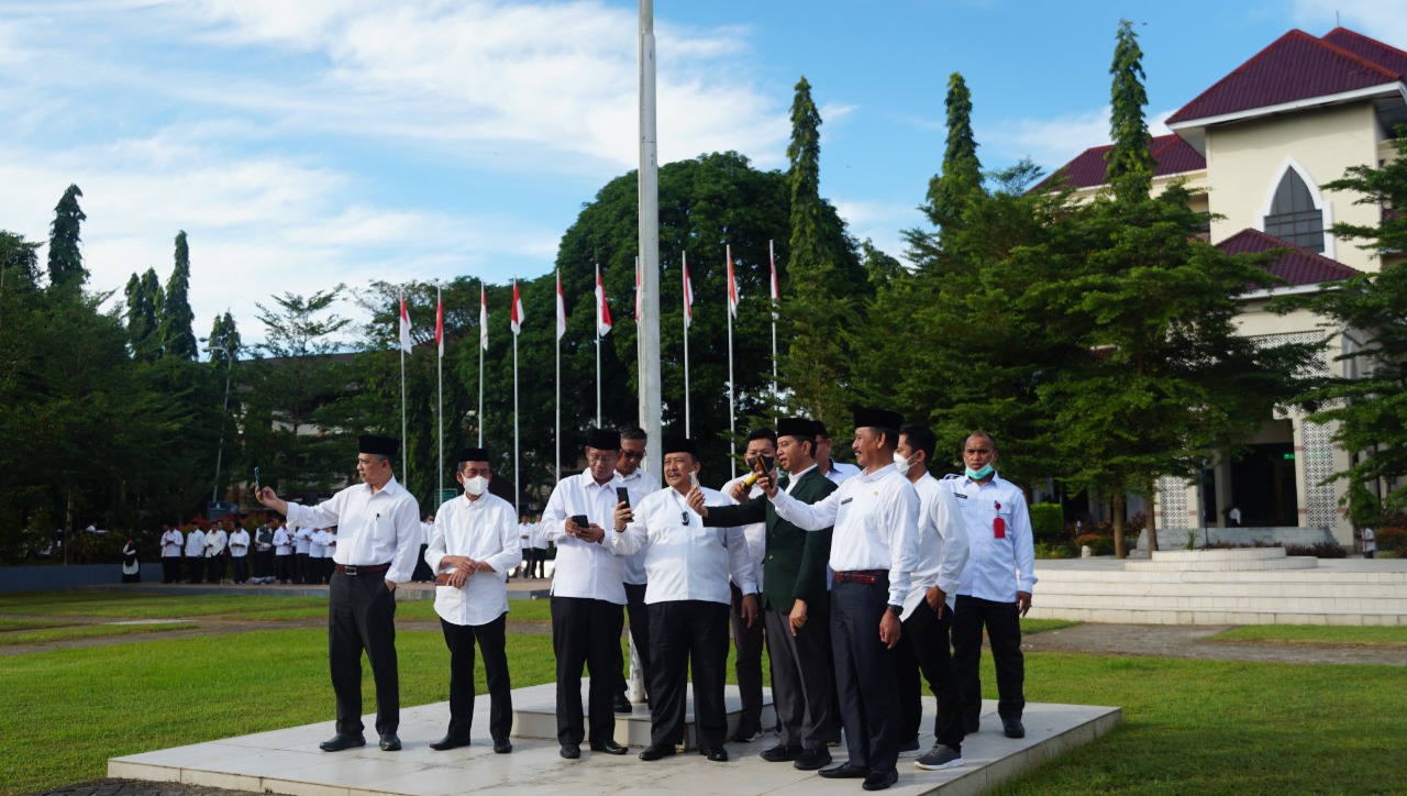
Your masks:
{"label": "white shirt on stout man directly right of the flagpole", "polygon": [[[722,492],[702,489],[705,506],[727,506]],[[740,527],[704,527],[704,518],[677,489],[651,492],[635,506],[635,522],[623,532],[608,532],[618,554],[644,554],[644,602],[706,601],[727,605],[737,588],[757,593],[753,558]]]}

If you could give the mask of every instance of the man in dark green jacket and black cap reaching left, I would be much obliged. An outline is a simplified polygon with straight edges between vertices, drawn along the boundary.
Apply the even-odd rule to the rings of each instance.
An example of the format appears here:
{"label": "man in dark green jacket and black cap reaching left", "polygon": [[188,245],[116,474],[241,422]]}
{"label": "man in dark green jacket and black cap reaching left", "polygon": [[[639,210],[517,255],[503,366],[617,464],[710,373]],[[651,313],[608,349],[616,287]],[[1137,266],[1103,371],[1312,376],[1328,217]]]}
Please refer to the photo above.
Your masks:
{"label": "man in dark green jacket and black cap reaching left", "polygon": [[[777,425],[777,464],[791,475],[778,487],[805,503],[815,503],[836,489],[816,468],[816,425],[784,418]],[[767,622],[771,655],[772,702],[782,727],[781,744],[761,754],[770,762],[792,762],[802,771],[830,764],[826,740],[832,731],[830,595],[826,563],[830,529],[805,532],[777,516],[771,501],[760,495],[737,506],[704,506],[694,489],[689,506],[705,526],[733,527],[767,523],[763,560],[761,609]]]}

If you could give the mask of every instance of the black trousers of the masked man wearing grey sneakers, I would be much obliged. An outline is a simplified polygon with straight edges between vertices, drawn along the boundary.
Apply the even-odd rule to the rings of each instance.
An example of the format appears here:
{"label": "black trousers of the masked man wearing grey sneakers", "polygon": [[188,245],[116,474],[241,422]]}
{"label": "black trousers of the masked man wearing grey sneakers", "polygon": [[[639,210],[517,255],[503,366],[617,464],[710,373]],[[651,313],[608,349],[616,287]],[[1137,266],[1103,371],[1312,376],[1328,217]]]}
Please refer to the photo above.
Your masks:
{"label": "black trousers of the masked man wearing grey sneakers", "polygon": [[940,619],[929,608],[929,601],[920,601],[909,619],[903,620],[903,634],[893,648],[895,676],[899,681],[899,707],[902,721],[899,740],[910,741],[919,737],[923,720],[923,685],[919,672],[929,681],[929,691],[938,700],[938,712],[933,719],[933,734],[938,743],[955,752],[962,751],[962,716],[958,712],[958,678],[953,669],[953,651],[948,648],[948,629],[953,615],[943,606]]}

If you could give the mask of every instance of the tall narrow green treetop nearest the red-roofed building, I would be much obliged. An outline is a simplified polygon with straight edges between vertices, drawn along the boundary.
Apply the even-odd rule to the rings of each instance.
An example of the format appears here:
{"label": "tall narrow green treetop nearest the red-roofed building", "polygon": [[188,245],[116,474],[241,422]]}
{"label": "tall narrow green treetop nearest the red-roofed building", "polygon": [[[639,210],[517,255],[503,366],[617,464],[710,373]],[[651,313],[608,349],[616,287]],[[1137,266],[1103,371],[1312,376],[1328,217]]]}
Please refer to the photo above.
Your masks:
{"label": "tall narrow green treetop nearest the red-roofed building", "polygon": [[1116,195],[1137,198],[1147,194],[1152,184],[1154,160],[1148,148],[1148,122],[1144,118],[1148,93],[1142,84],[1142,49],[1128,20],[1119,20],[1114,62],[1109,73],[1114,76],[1109,115],[1109,132],[1114,145],[1104,155],[1109,162],[1104,179]]}

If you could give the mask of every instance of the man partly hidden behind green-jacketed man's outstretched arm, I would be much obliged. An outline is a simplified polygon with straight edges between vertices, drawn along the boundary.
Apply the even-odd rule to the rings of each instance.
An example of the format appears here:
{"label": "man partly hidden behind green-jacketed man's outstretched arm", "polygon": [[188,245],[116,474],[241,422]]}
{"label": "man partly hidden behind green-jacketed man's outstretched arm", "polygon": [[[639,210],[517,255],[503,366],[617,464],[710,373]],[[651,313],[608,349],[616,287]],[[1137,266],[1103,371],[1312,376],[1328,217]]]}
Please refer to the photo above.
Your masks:
{"label": "man partly hidden behind green-jacketed man's outstretched arm", "polygon": [[[777,432],[772,429],[753,429],[747,435],[743,449],[743,460],[747,470],[758,467],[758,461],[765,458],[775,467],[777,464]],[[744,503],[763,494],[757,488],[756,480],[749,484],[751,473],[744,473],[719,488],[734,505]],[[747,537],[747,551],[753,560],[753,579],[757,584],[757,593],[763,593],[763,558],[767,556],[767,523],[754,522],[741,526],[743,536]],[[743,617],[743,593],[737,584],[732,586],[733,602],[729,610],[729,623],[733,629],[733,648],[737,657],[733,661],[733,671],[737,672],[737,692],[743,700],[743,712],[737,717],[737,730],[733,733],[734,741],[750,744],[763,737],[763,633],[764,622],[749,623]]]}

